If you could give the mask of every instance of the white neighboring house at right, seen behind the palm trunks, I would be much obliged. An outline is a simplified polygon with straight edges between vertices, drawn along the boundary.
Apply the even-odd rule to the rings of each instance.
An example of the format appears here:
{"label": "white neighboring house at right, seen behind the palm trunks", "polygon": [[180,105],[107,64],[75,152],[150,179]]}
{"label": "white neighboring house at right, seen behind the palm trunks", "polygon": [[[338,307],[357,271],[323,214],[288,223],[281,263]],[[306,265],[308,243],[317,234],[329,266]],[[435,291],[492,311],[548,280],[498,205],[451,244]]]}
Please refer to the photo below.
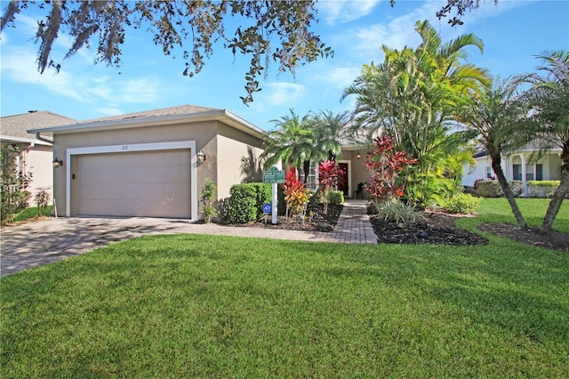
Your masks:
{"label": "white neighboring house at right, seen behind the palm trunks", "polygon": [[[561,173],[561,149],[550,149],[537,162],[533,162],[530,157],[537,149],[535,144],[530,144],[523,149],[504,154],[501,159],[501,167],[506,179],[524,183],[524,196],[531,195],[528,192],[528,181],[557,181]],[[468,165],[464,166],[462,177],[464,186],[472,187],[477,179],[495,177],[492,161],[485,151],[477,153],[474,158],[477,161],[474,170],[471,170]]]}

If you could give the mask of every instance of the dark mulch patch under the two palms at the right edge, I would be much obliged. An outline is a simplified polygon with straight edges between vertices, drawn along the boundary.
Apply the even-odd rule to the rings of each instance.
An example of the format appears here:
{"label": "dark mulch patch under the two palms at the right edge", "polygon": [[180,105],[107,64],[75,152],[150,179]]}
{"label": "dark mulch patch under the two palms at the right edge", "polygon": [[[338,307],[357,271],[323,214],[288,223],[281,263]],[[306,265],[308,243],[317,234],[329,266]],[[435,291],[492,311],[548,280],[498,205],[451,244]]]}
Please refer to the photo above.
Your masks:
{"label": "dark mulch patch under the two palms at the right edge", "polygon": [[547,247],[561,252],[569,252],[569,234],[549,231],[541,234],[535,229],[521,229],[508,223],[483,223],[479,230],[501,237],[514,239],[526,245]]}

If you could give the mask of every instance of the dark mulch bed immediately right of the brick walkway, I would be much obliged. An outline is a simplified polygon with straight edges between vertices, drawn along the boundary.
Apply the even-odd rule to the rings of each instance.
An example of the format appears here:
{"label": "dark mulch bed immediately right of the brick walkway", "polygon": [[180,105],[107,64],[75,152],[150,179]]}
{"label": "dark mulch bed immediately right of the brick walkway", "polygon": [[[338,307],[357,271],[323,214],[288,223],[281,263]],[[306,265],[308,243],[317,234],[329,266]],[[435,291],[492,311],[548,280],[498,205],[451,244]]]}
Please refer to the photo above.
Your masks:
{"label": "dark mulch bed immediately right of the brick walkway", "polygon": [[386,244],[485,245],[488,240],[454,224],[458,216],[426,213],[425,220],[407,224],[371,217],[378,242]]}

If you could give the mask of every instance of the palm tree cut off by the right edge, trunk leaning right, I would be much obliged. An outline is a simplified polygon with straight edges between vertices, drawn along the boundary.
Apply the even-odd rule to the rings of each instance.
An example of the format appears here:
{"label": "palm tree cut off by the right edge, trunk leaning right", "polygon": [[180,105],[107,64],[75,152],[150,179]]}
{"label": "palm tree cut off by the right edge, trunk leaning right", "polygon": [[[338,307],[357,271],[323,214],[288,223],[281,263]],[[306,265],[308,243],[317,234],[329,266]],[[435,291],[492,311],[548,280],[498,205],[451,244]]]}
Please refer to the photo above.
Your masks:
{"label": "palm tree cut off by the right edge, trunk leaning right", "polygon": [[561,148],[559,186],[549,201],[540,230],[551,230],[553,222],[569,193],[569,52],[542,52],[539,73],[525,77],[532,85],[526,97],[533,107],[533,128],[526,129],[522,141],[541,141],[541,153],[551,147]]}

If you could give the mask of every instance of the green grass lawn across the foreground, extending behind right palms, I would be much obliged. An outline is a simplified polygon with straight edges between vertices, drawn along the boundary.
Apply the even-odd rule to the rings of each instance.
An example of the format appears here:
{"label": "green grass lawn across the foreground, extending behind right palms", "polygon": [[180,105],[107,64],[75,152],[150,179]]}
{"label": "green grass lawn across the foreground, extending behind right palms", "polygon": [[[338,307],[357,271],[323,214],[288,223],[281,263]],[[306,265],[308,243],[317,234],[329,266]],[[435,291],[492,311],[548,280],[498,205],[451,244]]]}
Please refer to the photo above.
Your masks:
{"label": "green grass lawn across the foreground, extending behind right palms", "polygon": [[[565,202],[555,224],[569,232]],[[547,201],[520,201],[539,224]],[[459,223],[513,222],[485,199]],[[534,219],[534,220],[533,220]],[[0,279],[0,375],[566,377],[569,254],[137,238]]]}

